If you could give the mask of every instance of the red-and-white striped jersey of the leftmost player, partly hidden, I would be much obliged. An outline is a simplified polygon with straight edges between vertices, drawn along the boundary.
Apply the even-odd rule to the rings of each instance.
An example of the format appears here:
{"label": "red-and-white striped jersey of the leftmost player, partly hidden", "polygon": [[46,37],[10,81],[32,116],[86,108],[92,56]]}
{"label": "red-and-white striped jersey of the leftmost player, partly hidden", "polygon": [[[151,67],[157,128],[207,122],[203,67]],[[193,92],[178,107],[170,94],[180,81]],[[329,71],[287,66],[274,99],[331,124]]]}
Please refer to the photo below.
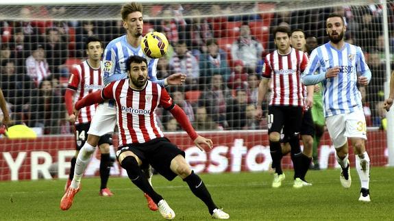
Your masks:
{"label": "red-and-white striped jersey of the leftmost player, partly hidden", "polygon": [[[103,87],[101,68],[92,68],[86,60],[73,68],[67,88],[75,91],[73,96],[73,103],[75,103],[89,93],[101,90]],[[90,122],[95,115],[96,107],[97,104],[82,108],[75,120],[75,125]]]}

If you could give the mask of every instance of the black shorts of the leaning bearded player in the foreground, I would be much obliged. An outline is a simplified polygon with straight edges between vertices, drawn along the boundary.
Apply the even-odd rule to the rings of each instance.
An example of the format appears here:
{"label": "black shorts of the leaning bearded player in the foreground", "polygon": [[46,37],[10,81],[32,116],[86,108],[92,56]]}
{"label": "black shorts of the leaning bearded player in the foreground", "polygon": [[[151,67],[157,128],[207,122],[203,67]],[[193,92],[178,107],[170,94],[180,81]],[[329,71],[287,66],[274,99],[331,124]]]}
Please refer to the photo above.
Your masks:
{"label": "black shorts of the leaning bearded player in the foreground", "polygon": [[156,138],[143,144],[127,144],[121,146],[116,151],[116,158],[125,151],[132,151],[137,157],[143,161],[143,166],[150,164],[158,173],[160,173],[167,180],[172,181],[177,174],[175,174],[170,166],[171,161],[177,156],[185,157],[184,151],[171,143],[167,138]]}

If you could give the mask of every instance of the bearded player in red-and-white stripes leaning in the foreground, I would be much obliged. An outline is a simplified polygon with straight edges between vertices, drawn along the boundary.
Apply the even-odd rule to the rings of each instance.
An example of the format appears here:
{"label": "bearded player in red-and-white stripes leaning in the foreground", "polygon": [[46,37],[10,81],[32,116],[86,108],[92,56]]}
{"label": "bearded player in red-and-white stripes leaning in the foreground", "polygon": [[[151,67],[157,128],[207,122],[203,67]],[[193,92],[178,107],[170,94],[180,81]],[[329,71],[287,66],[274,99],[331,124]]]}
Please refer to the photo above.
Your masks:
{"label": "bearded player in red-and-white stripes leaning in the foreground", "polygon": [[116,157],[122,168],[127,171],[132,183],[149,194],[158,205],[163,218],[172,220],[175,213],[149,184],[140,169],[144,164],[151,164],[169,181],[180,176],[193,194],[206,204],[212,218],[230,218],[214,204],[204,182],[188,166],[184,151],[164,138],[156,120],[156,109],[161,106],[171,112],[201,151],[204,151],[203,146],[212,148],[212,140],[203,138],[195,132],[184,111],[173,103],[165,88],[158,83],[147,81],[149,68],[144,57],[131,56],[125,65],[129,70],[129,79],[112,81],[101,92],[89,94],[78,101],[75,104],[75,116],[78,116],[81,107],[114,99],[119,130]]}

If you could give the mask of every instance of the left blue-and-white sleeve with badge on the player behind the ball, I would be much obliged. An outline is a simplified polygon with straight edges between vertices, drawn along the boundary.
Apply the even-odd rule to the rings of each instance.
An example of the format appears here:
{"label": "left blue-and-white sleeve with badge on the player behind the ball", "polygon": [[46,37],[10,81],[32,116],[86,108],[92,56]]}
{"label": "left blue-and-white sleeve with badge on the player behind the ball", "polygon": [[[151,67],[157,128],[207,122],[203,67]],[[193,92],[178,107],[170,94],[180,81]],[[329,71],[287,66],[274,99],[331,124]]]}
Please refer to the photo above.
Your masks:
{"label": "left blue-and-white sleeve with badge on the player behind the ball", "polygon": [[115,73],[116,62],[118,61],[116,47],[110,42],[104,50],[101,75],[104,84],[110,83],[110,77]]}

